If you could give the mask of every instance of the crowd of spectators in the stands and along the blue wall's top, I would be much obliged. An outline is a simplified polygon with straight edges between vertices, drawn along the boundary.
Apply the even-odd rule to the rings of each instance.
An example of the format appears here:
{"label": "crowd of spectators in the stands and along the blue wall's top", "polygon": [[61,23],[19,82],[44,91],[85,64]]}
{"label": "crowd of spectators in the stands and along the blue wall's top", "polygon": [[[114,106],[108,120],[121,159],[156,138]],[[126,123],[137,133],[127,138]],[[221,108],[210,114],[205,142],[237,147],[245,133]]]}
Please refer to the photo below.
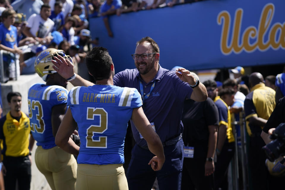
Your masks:
{"label": "crowd of spectators in the stands and along the blue wall's top", "polygon": [[[107,33],[113,37],[109,25],[109,15],[121,15],[125,12],[193,2],[194,0],[0,0],[1,30],[0,50],[4,55],[5,76],[1,82],[16,80],[15,62],[20,61],[20,74],[33,73],[33,69],[25,69],[26,61],[36,55],[37,47],[58,48],[66,40],[69,48],[79,46],[78,53],[73,56],[77,64],[84,60],[86,52],[93,45],[98,45],[99,38],[91,38],[88,30],[90,18],[102,17]],[[195,0],[197,1],[197,0]],[[8,11],[9,10],[9,11]],[[7,12],[8,11],[8,12]],[[11,20],[6,19],[6,15]],[[14,28],[15,26],[15,28]],[[17,35],[13,34],[17,31]],[[7,43],[9,42],[9,44]],[[31,45],[32,44],[32,45]],[[75,46],[75,47],[74,47]],[[8,48],[7,48],[8,47]],[[76,48],[75,48],[76,49]],[[66,49],[67,50],[67,49]],[[69,50],[69,49],[68,49]],[[18,54],[19,57],[15,57]],[[31,60],[30,60],[31,61]],[[80,68],[80,66],[76,66]],[[79,72],[79,71],[78,71]]]}

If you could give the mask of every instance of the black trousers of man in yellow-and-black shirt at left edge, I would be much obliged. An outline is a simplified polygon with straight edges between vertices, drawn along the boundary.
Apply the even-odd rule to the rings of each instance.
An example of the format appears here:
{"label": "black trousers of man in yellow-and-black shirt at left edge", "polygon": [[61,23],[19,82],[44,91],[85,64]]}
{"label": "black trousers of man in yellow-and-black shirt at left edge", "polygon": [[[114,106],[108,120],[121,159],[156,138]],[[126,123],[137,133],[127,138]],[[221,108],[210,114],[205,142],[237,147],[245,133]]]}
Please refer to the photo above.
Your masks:
{"label": "black trousers of man in yellow-and-black shirt at left edge", "polygon": [[6,190],[15,190],[16,181],[21,190],[29,190],[31,183],[31,161],[28,156],[4,156],[3,165],[7,172],[4,176]]}

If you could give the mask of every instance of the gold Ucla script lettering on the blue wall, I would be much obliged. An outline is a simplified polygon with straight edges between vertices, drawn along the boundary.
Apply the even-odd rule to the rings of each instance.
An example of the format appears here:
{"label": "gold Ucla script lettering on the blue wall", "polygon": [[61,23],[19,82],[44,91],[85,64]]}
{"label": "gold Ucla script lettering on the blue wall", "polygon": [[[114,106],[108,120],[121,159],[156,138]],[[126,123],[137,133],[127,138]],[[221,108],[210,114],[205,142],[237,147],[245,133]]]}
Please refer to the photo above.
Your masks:
{"label": "gold Ucla script lettering on the blue wall", "polygon": [[[254,52],[257,49],[266,51],[270,47],[274,50],[278,50],[279,48],[285,49],[285,22],[277,22],[270,27],[274,10],[274,4],[266,4],[259,18],[258,29],[255,26],[248,26],[243,33],[241,33],[240,28],[243,19],[243,9],[237,9],[235,11],[232,35],[229,34],[231,15],[225,10],[221,11],[217,17],[217,23],[222,25],[220,40],[221,52],[224,55],[229,55],[232,52],[239,54],[243,50],[248,53]],[[265,36],[267,37],[267,41],[265,41]],[[230,42],[229,39],[231,40]],[[251,41],[254,42],[251,43]]]}

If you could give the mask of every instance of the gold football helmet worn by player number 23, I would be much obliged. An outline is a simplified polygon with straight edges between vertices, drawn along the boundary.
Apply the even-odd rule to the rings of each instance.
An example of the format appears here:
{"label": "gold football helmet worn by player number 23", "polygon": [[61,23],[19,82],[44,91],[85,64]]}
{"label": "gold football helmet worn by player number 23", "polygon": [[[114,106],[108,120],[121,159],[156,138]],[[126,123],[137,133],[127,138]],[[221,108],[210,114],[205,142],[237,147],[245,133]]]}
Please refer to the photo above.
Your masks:
{"label": "gold football helmet worn by player number 23", "polygon": [[53,63],[51,62],[51,60],[53,60],[53,57],[57,57],[59,55],[63,58],[69,59],[73,64],[72,58],[70,56],[65,55],[64,50],[48,48],[46,50],[43,50],[37,56],[35,61],[35,71],[40,77],[42,77],[44,81],[46,81],[48,75],[56,73],[56,71],[53,69]]}

